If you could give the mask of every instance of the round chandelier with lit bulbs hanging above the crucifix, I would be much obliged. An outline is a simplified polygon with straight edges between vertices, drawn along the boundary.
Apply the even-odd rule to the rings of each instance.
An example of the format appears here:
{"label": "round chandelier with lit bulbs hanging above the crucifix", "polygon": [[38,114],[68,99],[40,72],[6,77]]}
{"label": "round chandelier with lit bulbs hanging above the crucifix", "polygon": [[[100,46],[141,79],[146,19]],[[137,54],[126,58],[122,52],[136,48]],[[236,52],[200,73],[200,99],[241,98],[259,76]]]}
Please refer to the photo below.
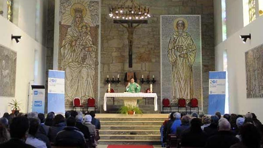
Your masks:
{"label": "round chandelier with lit bulbs hanging above the crucifix", "polygon": [[140,20],[151,17],[150,8],[141,6],[134,0],[126,0],[109,8],[109,16],[112,19]]}

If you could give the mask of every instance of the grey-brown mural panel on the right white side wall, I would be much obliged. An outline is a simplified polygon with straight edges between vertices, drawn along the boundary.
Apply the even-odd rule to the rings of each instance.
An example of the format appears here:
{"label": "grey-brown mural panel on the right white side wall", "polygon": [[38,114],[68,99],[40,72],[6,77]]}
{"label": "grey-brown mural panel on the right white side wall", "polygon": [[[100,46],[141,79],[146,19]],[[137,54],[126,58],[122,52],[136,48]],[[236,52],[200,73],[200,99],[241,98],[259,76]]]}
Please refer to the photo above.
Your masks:
{"label": "grey-brown mural panel on the right white side wall", "polygon": [[263,97],[263,44],[245,53],[247,98]]}

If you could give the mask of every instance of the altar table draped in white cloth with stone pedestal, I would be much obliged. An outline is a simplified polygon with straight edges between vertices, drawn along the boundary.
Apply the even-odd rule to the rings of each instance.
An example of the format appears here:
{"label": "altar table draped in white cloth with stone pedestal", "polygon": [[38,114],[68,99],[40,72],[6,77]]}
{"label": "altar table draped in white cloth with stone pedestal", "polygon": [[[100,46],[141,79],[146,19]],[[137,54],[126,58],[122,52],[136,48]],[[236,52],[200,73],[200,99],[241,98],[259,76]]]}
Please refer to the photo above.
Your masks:
{"label": "altar table draped in white cloth with stone pedestal", "polygon": [[104,111],[107,110],[107,97],[115,97],[122,99],[124,102],[124,106],[136,106],[137,100],[143,99],[144,97],[152,97],[154,98],[154,110],[158,110],[158,104],[157,104],[157,94],[156,93],[130,93],[130,92],[124,92],[124,93],[105,93],[104,94],[104,103],[103,103],[103,109]]}

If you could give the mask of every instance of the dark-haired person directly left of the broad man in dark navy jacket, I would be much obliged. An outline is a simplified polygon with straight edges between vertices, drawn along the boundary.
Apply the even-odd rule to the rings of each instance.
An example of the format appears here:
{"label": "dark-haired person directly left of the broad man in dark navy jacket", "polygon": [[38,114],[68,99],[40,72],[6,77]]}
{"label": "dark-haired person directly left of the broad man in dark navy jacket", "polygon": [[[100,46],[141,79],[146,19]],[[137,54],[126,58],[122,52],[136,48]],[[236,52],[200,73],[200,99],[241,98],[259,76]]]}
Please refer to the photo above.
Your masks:
{"label": "dark-haired person directly left of the broad man in dark navy jacket", "polygon": [[51,142],[55,142],[56,134],[62,131],[66,126],[65,118],[58,114],[54,118],[54,126],[49,127],[48,138]]}

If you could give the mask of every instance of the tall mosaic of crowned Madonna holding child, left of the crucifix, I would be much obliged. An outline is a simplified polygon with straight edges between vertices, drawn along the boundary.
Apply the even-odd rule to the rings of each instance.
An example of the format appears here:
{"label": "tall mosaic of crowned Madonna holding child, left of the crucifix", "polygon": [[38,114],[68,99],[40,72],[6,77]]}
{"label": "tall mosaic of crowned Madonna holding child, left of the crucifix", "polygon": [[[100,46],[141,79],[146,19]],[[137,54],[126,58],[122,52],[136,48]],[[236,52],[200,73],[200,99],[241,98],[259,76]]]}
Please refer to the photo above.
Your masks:
{"label": "tall mosaic of crowned Madonna holding child, left of the crucifix", "polygon": [[60,0],[59,70],[65,71],[65,106],[98,94],[99,1]]}

